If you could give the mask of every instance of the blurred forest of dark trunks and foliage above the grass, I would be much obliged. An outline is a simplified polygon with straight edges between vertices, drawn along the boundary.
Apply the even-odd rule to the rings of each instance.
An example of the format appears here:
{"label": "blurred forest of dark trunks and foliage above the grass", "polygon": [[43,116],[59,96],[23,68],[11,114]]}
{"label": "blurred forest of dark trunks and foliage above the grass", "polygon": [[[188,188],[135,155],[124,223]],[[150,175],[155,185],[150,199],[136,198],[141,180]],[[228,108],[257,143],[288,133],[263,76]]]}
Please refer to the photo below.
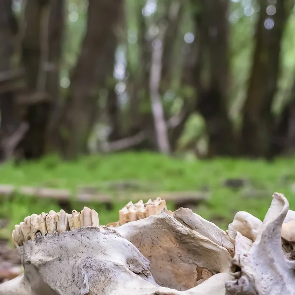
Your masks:
{"label": "blurred forest of dark trunks and foliage above the grass", "polygon": [[0,158],[295,148],[293,0],[1,0]]}

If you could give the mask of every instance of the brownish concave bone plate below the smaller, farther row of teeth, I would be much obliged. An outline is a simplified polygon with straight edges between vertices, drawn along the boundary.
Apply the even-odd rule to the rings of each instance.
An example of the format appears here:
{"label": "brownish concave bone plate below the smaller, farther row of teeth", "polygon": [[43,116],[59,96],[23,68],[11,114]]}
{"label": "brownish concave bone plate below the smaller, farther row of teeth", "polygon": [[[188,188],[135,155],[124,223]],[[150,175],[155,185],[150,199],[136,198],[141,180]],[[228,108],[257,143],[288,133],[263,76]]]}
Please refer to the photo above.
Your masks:
{"label": "brownish concave bone plate below the smaller, farther row of teeth", "polygon": [[168,210],[116,230],[148,258],[151,273],[161,286],[184,291],[216,273],[228,272],[232,257],[209,238],[214,232],[203,236],[188,229]]}

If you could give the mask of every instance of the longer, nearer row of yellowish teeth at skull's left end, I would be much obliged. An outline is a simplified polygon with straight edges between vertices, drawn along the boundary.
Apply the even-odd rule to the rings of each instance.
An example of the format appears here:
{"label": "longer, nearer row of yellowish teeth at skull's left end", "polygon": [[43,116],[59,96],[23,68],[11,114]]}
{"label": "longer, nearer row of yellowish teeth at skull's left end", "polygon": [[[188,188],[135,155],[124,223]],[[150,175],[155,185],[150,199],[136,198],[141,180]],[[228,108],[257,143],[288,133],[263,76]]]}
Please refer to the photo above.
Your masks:
{"label": "longer, nearer row of yellowish teeth at skull's left end", "polygon": [[23,222],[15,226],[12,241],[14,246],[18,247],[29,239],[34,240],[37,233],[45,236],[89,226],[99,227],[99,219],[98,213],[88,207],[84,207],[81,212],[73,210],[72,214],[67,214],[64,210],[58,213],[51,210],[48,214],[43,212],[40,215],[32,214],[26,217]]}

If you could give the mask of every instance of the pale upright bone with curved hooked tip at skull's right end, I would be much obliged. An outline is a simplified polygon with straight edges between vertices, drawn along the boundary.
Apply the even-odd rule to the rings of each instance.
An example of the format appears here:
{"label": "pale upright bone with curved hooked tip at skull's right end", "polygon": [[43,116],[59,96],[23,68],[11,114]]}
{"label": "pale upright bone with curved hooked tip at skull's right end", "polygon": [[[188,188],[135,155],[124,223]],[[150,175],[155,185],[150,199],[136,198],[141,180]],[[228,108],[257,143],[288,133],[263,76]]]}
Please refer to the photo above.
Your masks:
{"label": "pale upright bone with curved hooked tip at skull's right end", "polygon": [[288,209],[285,196],[275,193],[262,225],[255,227],[255,241],[236,233],[231,267],[236,280],[226,283],[226,295],[295,295],[295,261],[285,258],[281,239]]}

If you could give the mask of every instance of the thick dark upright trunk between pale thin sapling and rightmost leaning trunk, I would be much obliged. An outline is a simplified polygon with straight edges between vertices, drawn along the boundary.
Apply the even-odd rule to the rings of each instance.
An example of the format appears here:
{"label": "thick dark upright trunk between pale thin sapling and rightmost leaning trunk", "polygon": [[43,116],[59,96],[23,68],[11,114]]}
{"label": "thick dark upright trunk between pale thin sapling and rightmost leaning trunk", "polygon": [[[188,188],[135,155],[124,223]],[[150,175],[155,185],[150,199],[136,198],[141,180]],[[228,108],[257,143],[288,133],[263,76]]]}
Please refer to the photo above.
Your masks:
{"label": "thick dark upright trunk between pale thin sapling and rightmost leaning trunk", "polygon": [[[196,111],[206,121],[208,156],[235,154],[235,136],[228,117],[229,0],[192,1],[199,44],[193,70]],[[196,7],[198,5],[198,7]]]}

